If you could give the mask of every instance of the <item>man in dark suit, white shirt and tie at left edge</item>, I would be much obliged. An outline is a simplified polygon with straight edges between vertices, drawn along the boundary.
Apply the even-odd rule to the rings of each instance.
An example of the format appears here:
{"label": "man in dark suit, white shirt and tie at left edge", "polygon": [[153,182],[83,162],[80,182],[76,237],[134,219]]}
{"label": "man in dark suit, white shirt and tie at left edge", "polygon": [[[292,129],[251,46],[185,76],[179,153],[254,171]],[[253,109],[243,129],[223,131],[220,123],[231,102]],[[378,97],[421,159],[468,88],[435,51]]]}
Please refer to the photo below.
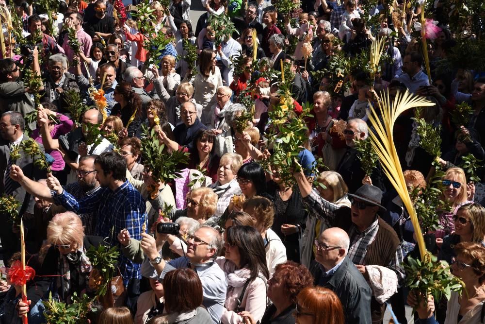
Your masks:
{"label": "man in dark suit, white shirt and tie at left edge", "polygon": [[[0,119],[0,174],[3,175],[0,181],[0,194],[13,195],[19,202],[19,216],[24,215],[26,227],[29,227],[29,216],[33,215],[34,199],[30,194],[26,194],[24,188],[9,176],[12,164],[18,165],[25,175],[31,179],[39,180],[47,177],[46,171],[40,170],[33,164],[34,159],[40,156],[32,157],[20,150],[20,158],[16,161],[10,160],[10,147],[18,145],[23,141],[30,139],[24,134],[25,120],[22,114],[15,111],[7,111],[1,115]],[[44,147],[39,144],[42,153]],[[3,260],[6,261],[19,250],[19,237],[13,232],[12,224],[6,214],[0,216],[0,240],[3,248]]]}

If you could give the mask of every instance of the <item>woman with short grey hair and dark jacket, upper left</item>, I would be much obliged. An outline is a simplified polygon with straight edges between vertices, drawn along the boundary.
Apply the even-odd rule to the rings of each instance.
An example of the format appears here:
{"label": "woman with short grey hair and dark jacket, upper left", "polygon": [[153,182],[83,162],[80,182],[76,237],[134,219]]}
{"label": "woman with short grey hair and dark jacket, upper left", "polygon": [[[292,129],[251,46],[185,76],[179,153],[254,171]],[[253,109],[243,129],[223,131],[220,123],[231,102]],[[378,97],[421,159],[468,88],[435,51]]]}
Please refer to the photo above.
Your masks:
{"label": "woman with short grey hair and dark jacket, upper left", "polygon": [[65,112],[67,104],[64,100],[65,91],[80,91],[74,75],[67,72],[67,57],[64,54],[51,55],[48,72],[42,76],[42,79],[44,80],[44,100],[55,104],[58,112]]}

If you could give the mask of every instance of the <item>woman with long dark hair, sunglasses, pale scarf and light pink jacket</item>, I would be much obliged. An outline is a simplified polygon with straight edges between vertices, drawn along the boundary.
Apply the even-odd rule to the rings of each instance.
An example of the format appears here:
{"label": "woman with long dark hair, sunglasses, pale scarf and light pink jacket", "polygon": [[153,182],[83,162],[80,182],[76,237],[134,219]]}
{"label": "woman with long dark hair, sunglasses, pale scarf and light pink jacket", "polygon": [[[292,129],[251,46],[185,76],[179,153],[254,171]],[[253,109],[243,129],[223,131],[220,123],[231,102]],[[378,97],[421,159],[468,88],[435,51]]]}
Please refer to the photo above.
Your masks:
{"label": "woman with long dark hair, sunglasses, pale scarf and light pink jacket", "polygon": [[252,226],[227,229],[226,256],[217,263],[226,273],[228,288],[222,324],[239,324],[242,311],[261,320],[266,309],[266,280],[269,278],[263,239]]}

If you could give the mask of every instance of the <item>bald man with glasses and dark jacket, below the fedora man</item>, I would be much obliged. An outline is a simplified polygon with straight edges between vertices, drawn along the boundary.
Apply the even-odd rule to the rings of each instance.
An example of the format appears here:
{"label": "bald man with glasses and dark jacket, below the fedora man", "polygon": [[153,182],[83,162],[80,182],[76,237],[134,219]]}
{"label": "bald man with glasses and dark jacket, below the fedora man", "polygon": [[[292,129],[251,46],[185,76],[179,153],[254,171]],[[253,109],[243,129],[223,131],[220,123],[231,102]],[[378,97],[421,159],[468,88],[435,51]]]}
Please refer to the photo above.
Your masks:
{"label": "bald man with glasses and dark jacket, below the fedora man", "polygon": [[319,263],[314,274],[315,285],[333,290],[339,296],[345,313],[345,323],[372,323],[372,290],[362,273],[347,257],[350,239],[339,227],[323,231],[315,240]]}

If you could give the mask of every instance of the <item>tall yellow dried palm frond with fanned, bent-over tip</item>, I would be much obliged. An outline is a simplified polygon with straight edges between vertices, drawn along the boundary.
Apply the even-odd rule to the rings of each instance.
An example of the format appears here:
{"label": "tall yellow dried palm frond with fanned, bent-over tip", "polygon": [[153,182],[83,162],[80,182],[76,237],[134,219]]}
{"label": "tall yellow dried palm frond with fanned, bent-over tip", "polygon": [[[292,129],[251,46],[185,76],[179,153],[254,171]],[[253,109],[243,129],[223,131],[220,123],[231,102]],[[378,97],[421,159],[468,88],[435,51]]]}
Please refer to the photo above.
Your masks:
{"label": "tall yellow dried palm frond with fanned, bent-over tip", "polygon": [[420,249],[421,259],[424,258],[426,253],[426,247],[424,245],[423,235],[421,233],[420,224],[418,222],[418,216],[414,208],[414,204],[409,197],[407,191],[406,182],[404,181],[403,170],[401,169],[401,163],[394,146],[394,138],[392,135],[392,129],[396,119],[404,111],[415,107],[427,107],[434,106],[435,103],[426,100],[424,97],[415,96],[409,93],[408,90],[404,94],[398,92],[394,101],[389,99],[389,92],[386,91],[383,95],[382,101],[379,102],[379,110],[382,115],[382,120],[377,118],[375,108],[370,105],[371,113],[369,120],[374,126],[377,135],[369,132],[369,136],[372,138],[372,146],[379,157],[379,161],[382,164],[384,173],[389,178],[392,186],[396,189],[399,197],[403,200],[404,206],[409,213],[411,222],[416,233],[416,239]]}

